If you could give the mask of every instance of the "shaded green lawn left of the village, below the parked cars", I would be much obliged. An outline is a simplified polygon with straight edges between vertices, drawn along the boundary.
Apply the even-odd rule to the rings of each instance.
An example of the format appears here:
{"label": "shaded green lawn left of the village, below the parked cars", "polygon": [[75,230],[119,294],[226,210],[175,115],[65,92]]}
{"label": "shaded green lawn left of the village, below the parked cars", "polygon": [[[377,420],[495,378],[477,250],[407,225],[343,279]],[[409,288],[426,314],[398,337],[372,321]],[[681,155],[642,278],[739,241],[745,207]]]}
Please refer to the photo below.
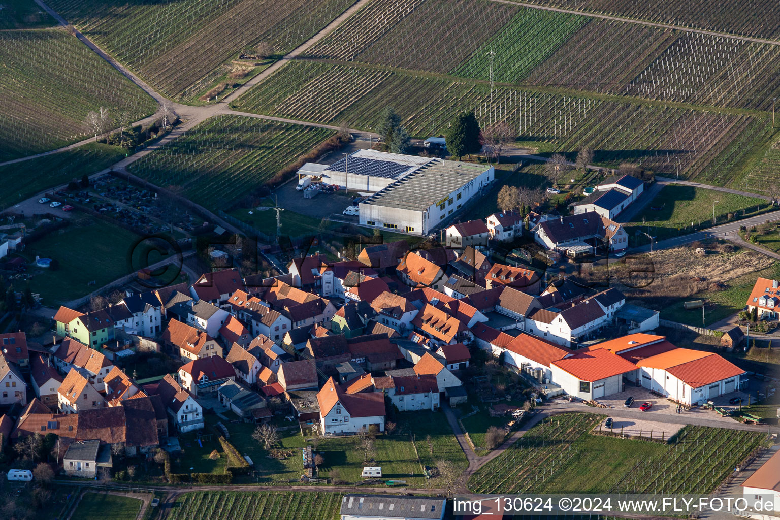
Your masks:
{"label": "shaded green lawn left of the village, below the parked cars", "polygon": [[28,267],[27,273],[33,274],[30,289],[41,294],[47,306],[87,295],[133,271],[128,255],[138,239],[125,228],[89,219],[51,232],[22,253],[29,261],[41,256],[59,263],[56,270]]}

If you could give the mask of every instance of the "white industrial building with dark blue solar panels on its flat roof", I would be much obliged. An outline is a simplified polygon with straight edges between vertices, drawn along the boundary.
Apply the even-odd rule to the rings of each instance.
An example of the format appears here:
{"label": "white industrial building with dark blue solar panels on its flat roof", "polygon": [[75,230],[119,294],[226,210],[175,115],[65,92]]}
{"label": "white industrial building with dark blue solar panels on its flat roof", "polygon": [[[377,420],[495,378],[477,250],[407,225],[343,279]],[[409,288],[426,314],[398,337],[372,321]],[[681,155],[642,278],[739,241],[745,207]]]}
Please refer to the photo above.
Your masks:
{"label": "white industrial building with dark blue solar panels on its flat roof", "polygon": [[324,184],[360,193],[374,193],[430,162],[429,157],[357,150],[333,164],[303,164],[300,175],[321,177]]}

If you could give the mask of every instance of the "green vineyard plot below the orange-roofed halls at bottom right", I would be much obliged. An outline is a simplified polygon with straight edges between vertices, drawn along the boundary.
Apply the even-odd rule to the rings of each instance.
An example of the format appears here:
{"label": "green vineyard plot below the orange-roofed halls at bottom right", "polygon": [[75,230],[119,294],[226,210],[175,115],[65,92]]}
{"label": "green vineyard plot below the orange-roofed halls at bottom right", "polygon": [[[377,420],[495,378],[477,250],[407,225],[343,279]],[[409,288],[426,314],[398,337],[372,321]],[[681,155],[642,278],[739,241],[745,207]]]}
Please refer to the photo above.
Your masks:
{"label": "green vineyard plot below the orange-roofed halls at bottom right", "polygon": [[[476,493],[709,493],[763,434],[686,426],[672,444],[590,435],[603,416],[544,419],[469,480]],[[544,475],[537,471],[544,468]]]}

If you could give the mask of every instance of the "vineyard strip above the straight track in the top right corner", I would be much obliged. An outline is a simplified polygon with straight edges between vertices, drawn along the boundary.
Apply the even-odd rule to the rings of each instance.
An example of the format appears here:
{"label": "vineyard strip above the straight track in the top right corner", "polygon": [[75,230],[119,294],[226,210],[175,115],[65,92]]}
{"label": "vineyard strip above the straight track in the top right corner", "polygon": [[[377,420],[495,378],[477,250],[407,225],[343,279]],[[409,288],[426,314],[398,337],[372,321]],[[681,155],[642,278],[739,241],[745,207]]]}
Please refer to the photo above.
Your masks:
{"label": "vineyard strip above the straight track in the top right corner", "polygon": [[714,30],[777,40],[780,38],[780,4],[767,0],[527,0],[539,5],[598,12],[610,16],[673,23],[681,27]]}

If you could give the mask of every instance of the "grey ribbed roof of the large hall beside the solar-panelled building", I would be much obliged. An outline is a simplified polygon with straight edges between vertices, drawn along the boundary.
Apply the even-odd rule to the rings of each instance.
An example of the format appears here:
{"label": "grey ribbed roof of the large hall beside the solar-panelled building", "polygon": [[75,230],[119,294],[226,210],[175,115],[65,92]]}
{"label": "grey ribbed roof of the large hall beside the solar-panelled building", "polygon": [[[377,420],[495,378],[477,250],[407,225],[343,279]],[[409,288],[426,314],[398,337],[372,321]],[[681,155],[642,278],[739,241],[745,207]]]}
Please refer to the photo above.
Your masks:
{"label": "grey ribbed roof of the large hall beside the solar-panelled building", "polygon": [[398,207],[423,211],[438,203],[467,182],[477,179],[491,166],[434,159],[417,172],[406,175],[368,197],[360,205]]}

